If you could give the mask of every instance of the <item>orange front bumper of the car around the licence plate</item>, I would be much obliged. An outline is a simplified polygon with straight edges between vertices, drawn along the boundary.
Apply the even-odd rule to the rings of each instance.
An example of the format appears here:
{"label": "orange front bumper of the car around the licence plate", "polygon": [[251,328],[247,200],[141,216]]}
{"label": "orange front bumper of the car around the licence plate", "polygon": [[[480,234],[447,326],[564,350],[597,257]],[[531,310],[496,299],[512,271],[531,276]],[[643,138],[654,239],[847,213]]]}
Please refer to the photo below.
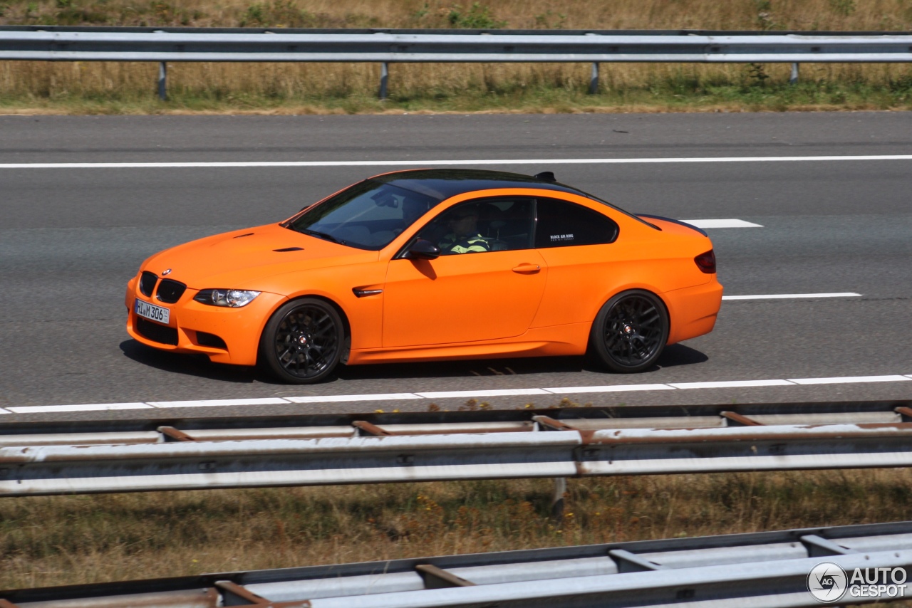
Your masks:
{"label": "orange front bumper of the car around the licence plate", "polygon": [[[205,355],[215,363],[256,365],[257,348],[264,325],[284,295],[262,293],[241,308],[211,306],[193,301],[199,291],[188,288],[175,304],[159,302],[140,294],[138,281],[127,284],[127,333],[144,345],[172,353]],[[168,325],[145,319],[135,312],[137,299],[170,311]],[[213,337],[218,339],[213,339]]]}

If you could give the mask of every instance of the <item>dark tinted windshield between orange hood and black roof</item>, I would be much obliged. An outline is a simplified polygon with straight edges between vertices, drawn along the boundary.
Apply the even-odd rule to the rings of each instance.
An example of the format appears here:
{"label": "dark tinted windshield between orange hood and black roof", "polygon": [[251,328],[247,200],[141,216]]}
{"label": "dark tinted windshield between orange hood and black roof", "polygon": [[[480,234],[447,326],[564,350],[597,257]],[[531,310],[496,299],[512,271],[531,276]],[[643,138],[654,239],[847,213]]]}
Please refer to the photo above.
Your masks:
{"label": "dark tinted windshield between orange hood and black roof", "polygon": [[443,199],[375,180],[314,205],[285,228],[358,249],[383,249]]}

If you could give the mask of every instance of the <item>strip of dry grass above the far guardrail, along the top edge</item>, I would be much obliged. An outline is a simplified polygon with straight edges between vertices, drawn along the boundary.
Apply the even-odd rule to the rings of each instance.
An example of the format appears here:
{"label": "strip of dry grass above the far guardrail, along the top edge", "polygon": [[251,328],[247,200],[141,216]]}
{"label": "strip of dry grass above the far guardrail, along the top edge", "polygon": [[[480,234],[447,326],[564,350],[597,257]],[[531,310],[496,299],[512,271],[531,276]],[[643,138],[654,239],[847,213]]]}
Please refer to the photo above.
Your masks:
{"label": "strip of dry grass above the far guardrail, along the top edge", "polygon": [[912,29],[909,0],[5,0],[2,6],[0,25]]}

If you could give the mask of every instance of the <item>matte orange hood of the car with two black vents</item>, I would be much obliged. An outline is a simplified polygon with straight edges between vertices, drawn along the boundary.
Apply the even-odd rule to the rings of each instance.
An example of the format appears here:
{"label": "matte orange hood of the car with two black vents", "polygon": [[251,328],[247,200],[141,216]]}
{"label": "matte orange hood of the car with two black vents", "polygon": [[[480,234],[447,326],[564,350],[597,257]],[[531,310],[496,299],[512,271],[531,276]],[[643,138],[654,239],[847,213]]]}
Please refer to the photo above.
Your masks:
{"label": "matte orange hood of the car with two black vents", "polygon": [[378,252],[347,247],[267,224],[216,234],[156,253],[142,264],[148,270],[186,283],[191,289],[269,291],[276,274],[378,259]]}

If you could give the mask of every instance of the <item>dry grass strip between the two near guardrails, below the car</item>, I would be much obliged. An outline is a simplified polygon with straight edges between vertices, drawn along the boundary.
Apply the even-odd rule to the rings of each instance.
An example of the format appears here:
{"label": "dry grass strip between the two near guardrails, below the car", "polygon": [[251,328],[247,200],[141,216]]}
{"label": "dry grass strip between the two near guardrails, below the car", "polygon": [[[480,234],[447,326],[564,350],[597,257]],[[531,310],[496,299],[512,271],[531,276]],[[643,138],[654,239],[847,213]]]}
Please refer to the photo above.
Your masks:
{"label": "dry grass strip between the two near guardrails, below the car", "polygon": [[0,502],[0,589],[908,519],[903,469]]}

